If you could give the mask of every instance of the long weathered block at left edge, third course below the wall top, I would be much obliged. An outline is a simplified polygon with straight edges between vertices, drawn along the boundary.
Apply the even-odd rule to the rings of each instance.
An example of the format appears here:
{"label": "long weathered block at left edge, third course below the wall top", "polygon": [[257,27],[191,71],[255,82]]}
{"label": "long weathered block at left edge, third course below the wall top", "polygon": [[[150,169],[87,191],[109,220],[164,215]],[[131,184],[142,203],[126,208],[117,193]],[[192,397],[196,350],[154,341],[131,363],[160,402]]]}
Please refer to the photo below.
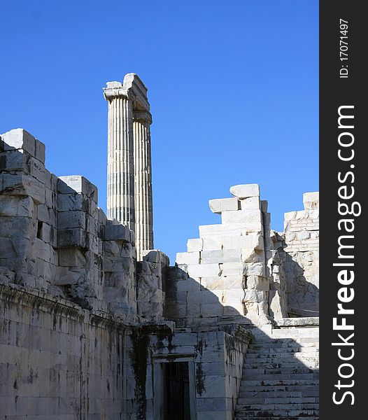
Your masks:
{"label": "long weathered block at left edge, third course below the wall top", "polygon": [[26,174],[1,174],[0,193],[4,195],[29,195],[36,204],[45,203],[45,186]]}

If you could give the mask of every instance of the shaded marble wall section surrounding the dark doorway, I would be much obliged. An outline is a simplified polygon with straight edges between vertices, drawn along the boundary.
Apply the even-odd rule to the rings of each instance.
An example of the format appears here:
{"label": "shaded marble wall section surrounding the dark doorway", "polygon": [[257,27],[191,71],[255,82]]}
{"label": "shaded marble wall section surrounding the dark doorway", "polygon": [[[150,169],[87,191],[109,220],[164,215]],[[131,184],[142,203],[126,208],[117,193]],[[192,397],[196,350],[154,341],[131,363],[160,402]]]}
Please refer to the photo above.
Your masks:
{"label": "shaded marble wall section surrounding the dark doorway", "polygon": [[189,363],[195,418],[232,420],[251,339],[250,332],[236,326],[202,332],[178,329],[174,333],[142,328],[129,335],[127,349],[134,354],[127,372],[129,420],[163,418],[162,365],[183,361]]}

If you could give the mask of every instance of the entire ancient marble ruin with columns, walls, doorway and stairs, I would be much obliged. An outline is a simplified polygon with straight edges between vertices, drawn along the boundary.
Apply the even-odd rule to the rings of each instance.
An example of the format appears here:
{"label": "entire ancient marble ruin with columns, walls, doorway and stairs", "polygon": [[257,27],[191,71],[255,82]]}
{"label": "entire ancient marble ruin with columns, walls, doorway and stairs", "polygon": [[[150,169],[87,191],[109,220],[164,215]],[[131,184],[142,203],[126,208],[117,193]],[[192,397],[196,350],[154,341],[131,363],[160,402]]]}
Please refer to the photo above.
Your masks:
{"label": "entire ancient marble ruin with columns, walls, doorway and stairs", "polygon": [[318,193],[276,232],[260,186],[232,186],[170,265],[147,89],[104,97],[107,216],[41,141],[1,134],[0,419],[318,419]]}

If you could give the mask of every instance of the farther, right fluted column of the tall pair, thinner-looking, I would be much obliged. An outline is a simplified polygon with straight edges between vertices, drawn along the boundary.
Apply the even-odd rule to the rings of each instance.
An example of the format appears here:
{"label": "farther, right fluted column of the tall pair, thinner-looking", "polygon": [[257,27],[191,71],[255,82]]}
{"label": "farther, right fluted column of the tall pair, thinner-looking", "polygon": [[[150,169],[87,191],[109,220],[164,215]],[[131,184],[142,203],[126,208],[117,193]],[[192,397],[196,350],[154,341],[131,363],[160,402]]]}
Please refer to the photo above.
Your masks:
{"label": "farther, right fluted column of the tall pair, thinner-looking", "polygon": [[148,111],[134,111],[134,190],[136,214],[136,253],[141,260],[142,252],[153,248],[153,200],[150,124]]}

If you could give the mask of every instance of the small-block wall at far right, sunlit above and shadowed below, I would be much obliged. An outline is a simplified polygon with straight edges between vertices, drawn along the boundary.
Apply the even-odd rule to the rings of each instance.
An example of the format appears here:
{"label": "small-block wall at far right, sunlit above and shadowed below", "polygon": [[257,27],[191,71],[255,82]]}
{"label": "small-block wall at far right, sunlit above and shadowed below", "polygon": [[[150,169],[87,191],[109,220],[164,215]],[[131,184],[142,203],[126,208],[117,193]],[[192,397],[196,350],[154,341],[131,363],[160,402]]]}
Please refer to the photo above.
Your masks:
{"label": "small-block wall at far right, sunlit above and shadowed below", "polygon": [[318,316],[319,194],[303,195],[304,210],[285,213],[283,268],[290,316]]}

